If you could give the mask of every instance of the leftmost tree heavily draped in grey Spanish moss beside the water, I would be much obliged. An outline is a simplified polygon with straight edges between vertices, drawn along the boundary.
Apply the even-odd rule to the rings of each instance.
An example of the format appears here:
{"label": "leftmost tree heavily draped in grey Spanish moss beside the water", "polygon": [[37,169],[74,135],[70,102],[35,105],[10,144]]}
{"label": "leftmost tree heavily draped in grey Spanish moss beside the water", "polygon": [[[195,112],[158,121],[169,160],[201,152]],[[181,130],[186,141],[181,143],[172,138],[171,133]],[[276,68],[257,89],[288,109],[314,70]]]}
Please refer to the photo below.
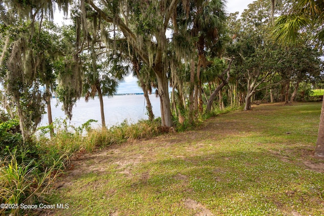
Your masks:
{"label": "leftmost tree heavily draped in grey Spanish moss beside the water", "polygon": [[[53,19],[55,3],[67,13],[68,0],[5,0],[0,3],[0,39],[4,42],[0,56],[1,81],[6,88],[6,98],[17,109],[24,141],[34,133],[41,120],[44,99],[51,123],[50,91],[55,81],[53,71],[57,72],[59,79],[59,98],[64,102],[64,110],[70,118],[75,98],[80,96],[78,55],[76,52],[64,52],[66,46],[57,46],[67,40],[58,41],[55,27],[47,22]],[[41,85],[45,85],[45,90],[39,88]]]}

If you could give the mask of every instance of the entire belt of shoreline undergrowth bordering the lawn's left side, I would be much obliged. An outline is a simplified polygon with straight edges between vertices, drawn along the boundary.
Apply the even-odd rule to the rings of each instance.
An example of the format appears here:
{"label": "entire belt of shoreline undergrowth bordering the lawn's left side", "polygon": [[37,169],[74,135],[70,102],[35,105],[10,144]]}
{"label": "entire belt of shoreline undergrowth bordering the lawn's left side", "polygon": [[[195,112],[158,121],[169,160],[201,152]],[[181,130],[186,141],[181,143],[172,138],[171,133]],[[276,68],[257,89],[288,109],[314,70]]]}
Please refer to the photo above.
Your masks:
{"label": "entire belt of shoreline undergrowth bordering the lawn's left side", "polygon": [[[226,113],[236,108],[214,110],[208,115],[197,115],[192,124],[180,124],[174,119],[173,128],[160,126],[160,118],[153,121],[140,120],[130,124],[127,121],[104,129],[93,129],[88,120],[75,127],[67,120],[56,119],[55,134],[50,138],[50,126],[39,127],[37,136],[22,141],[19,121],[1,113],[0,120],[0,202],[8,208],[0,209],[2,214],[19,215],[30,211],[17,204],[46,203],[47,194],[70,158],[77,158],[86,152],[93,152],[130,139],[150,138],[170,131],[185,131],[194,128],[204,119]],[[10,206],[9,206],[10,205]],[[10,208],[9,208],[10,207]]]}

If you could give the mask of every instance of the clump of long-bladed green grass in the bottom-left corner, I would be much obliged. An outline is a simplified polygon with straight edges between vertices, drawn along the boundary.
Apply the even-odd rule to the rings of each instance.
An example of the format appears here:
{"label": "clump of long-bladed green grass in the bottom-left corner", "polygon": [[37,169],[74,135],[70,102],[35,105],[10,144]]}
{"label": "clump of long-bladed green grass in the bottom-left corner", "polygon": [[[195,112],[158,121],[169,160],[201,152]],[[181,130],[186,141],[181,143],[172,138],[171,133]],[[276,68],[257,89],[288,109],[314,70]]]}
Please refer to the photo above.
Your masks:
{"label": "clump of long-bladed green grass in the bottom-left corner", "polygon": [[[43,202],[52,183],[64,169],[66,160],[67,157],[61,156],[53,161],[52,166],[42,170],[35,159],[18,162],[15,153],[0,159],[0,203],[28,205]],[[28,210],[2,208],[0,213],[20,215]]]}

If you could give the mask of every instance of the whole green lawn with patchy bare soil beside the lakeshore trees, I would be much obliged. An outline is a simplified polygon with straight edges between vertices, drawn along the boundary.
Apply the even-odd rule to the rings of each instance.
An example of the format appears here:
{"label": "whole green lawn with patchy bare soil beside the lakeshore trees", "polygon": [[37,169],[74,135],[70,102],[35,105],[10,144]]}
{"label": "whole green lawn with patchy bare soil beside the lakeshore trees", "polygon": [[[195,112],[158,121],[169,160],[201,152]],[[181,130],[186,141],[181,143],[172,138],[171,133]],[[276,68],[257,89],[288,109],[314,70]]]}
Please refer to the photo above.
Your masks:
{"label": "whole green lawn with patchy bare soil beside the lakeshore trees", "polygon": [[44,215],[324,215],[321,102],[254,106],[72,161]]}

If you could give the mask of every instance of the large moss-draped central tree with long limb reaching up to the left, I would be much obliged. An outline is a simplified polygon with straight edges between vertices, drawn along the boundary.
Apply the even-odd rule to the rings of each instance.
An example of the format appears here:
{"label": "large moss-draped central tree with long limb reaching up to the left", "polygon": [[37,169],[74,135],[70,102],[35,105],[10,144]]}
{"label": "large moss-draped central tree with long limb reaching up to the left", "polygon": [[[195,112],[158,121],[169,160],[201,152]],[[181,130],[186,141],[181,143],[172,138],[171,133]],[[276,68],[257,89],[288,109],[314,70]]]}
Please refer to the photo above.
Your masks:
{"label": "large moss-draped central tree with long limb reaching up to the left", "polygon": [[[101,20],[112,24],[112,39],[116,39],[115,27],[118,27],[141,60],[154,71],[160,98],[161,122],[163,126],[172,126],[167,77],[166,31],[177,1],[112,1],[109,4],[102,2],[101,5],[91,0],[81,1],[81,20],[87,17],[87,4],[87,7],[91,7],[93,14],[97,14]],[[86,25],[84,25],[84,31],[87,32]]]}

